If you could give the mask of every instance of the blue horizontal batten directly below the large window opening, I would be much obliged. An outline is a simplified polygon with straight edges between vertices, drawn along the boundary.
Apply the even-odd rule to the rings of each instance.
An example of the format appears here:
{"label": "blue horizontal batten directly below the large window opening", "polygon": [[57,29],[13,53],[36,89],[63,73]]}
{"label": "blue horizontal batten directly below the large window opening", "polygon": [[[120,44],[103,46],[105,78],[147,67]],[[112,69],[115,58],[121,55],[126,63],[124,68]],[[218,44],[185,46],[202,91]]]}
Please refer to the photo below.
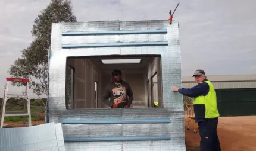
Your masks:
{"label": "blue horizontal batten directly below the large window opening", "polygon": [[60,119],[63,124],[122,124],[122,123],[171,123],[169,118],[148,119]]}

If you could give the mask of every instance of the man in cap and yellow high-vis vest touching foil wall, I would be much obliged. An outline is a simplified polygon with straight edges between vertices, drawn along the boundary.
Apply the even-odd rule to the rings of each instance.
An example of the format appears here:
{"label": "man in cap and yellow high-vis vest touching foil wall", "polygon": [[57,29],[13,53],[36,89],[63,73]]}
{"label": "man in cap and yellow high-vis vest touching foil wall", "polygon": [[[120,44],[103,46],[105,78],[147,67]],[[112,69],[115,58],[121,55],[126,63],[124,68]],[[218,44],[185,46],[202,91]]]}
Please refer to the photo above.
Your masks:
{"label": "man in cap and yellow high-vis vest touching foil wall", "polygon": [[201,137],[200,151],[220,151],[220,142],[217,134],[220,114],[218,113],[214,86],[208,81],[204,70],[196,70],[193,77],[195,77],[198,85],[189,89],[174,86],[173,91],[194,98],[195,122],[198,123]]}

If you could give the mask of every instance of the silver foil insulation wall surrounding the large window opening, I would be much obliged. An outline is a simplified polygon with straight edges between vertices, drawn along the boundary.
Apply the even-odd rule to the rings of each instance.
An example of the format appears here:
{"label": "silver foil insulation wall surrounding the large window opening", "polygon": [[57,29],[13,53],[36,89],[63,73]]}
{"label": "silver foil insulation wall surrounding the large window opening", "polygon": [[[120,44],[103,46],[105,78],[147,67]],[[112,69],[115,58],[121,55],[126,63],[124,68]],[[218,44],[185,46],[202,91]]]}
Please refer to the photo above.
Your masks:
{"label": "silver foil insulation wall surrounding the large window opening", "polygon": [[[177,21],[53,23],[51,38],[47,121],[67,121],[66,150],[186,150]],[[113,54],[161,55],[164,108],[65,109],[67,57]]]}

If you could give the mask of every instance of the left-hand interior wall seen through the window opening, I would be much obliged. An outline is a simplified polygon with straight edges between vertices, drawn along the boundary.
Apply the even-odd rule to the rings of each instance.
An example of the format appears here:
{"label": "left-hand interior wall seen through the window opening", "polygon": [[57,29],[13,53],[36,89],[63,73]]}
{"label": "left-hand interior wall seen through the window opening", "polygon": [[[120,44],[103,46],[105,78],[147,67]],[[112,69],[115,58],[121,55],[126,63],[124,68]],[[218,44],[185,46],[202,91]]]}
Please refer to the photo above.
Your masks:
{"label": "left-hand interior wall seen through the window opening", "polygon": [[98,82],[98,104],[101,98],[101,71],[88,59],[70,59],[75,68],[74,108],[96,108],[95,81]]}

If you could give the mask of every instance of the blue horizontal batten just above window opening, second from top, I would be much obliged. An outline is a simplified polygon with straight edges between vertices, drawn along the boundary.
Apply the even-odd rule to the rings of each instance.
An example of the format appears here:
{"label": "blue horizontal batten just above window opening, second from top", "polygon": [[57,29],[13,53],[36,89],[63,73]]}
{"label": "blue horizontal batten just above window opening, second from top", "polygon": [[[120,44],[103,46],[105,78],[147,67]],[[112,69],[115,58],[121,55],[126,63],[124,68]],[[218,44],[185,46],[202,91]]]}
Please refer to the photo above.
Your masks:
{"label": "blue horizontal batten just above window opening, second from top", "polygon": [[62,48],[86,47],[121,47],[121,46],[168,46],[168,41],[138,42],[138,43],[88,43],[88,44],[63,44]]}

